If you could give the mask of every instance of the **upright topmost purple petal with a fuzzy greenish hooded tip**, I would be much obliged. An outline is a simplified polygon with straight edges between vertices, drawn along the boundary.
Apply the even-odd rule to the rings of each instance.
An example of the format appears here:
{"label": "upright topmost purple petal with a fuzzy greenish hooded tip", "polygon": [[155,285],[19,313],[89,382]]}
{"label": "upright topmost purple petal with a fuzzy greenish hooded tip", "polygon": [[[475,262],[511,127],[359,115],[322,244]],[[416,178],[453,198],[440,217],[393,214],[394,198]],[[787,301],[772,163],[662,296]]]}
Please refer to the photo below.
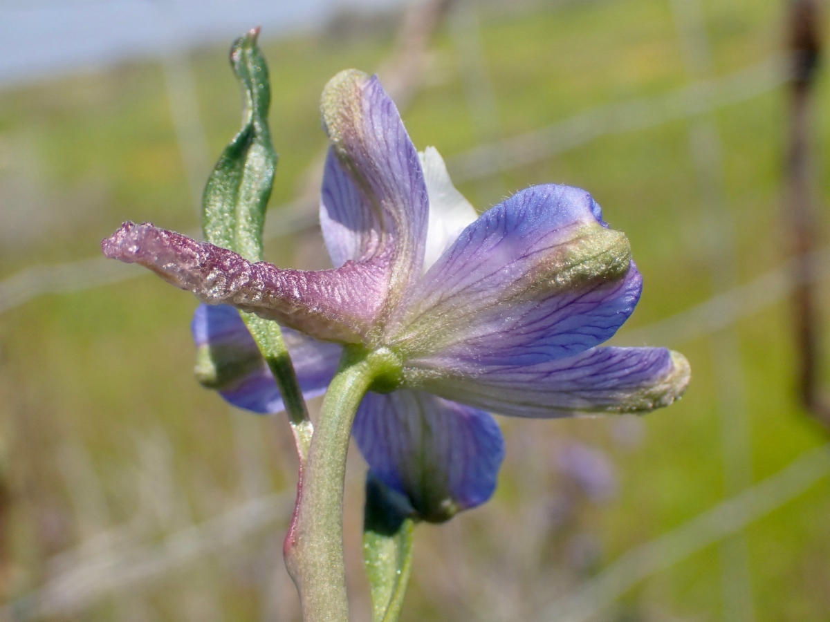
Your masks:
{"label": "upright topmost purple petal with a fuzzy greenish hooded tip", "polygon": [[321,202],[326,245],[335,265],[390,252],[386,308],[394,309],[421,274],[427,237],[417,151],[377,76],[341,71],[325,86],[320,109],[333,154]]}

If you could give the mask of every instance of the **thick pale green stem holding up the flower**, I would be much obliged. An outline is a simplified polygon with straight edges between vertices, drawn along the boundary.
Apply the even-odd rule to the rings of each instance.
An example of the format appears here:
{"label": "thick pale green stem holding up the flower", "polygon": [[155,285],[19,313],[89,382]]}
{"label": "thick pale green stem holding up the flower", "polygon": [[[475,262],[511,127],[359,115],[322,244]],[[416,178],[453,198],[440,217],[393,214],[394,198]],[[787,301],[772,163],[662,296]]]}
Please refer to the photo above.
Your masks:
{"label": "thick pale green stem holding up the flower", "polygon": [[[379,355],[379,356],[378,356]],[[304,622],[347,622],[343,485],[352,422],[383,371],[383,353],[346,347],[325,394],[286,537],[286,566],[300,592]]]}

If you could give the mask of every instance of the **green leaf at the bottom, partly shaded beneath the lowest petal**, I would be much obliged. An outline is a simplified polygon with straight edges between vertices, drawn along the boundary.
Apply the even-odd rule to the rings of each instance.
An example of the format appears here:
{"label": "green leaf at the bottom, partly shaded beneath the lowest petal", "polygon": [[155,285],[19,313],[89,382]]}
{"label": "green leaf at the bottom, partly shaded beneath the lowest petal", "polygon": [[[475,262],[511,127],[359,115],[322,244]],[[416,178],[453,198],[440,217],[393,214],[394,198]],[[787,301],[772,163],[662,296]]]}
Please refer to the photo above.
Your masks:
{"label": "green leaf at the bottom, partly shaded beneath the lowest petal", "polygon": [[397,622],[413,565],[412,506],[372,474],[366,477],[364,565],[373,622]]}

